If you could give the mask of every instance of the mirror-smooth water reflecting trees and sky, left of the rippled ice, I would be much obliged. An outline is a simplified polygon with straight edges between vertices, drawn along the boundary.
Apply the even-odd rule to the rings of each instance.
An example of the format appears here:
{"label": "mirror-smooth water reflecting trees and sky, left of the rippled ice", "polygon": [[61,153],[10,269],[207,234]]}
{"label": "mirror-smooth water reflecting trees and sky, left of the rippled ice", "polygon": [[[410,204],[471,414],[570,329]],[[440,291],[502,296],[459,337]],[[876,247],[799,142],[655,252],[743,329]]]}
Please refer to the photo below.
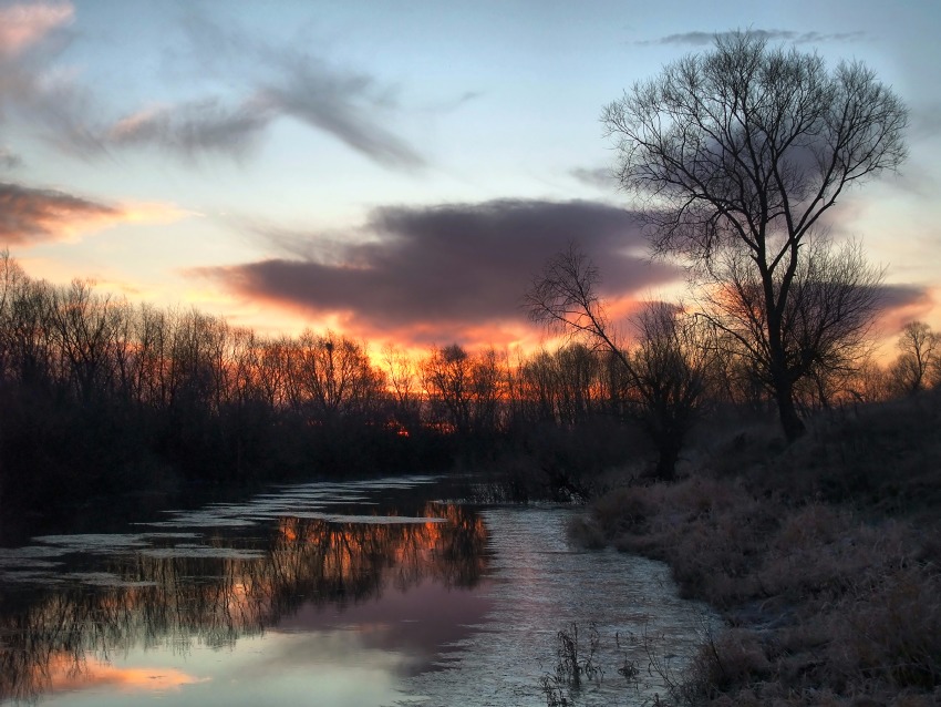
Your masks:
{"label": "mirror-smooth water reflecting trees and sky, left of the rippled ice", "polygon": [[[432,481],[300,484],[167,514],[186,532],[44,535],[0,550],[0,696],[252,705],[316,689],[324,704],[381,704],[489,607],[475,574],[486,533],[469,510],[395,514],[400,496],[423,512]],[[342,523],[309,511],[340,502]],[[240,515],[251,527],[224,522]],[[457,541],[453,556],[461,532],[474,542]],[[462,562],[473,590],[455,588],[451,564]]]}

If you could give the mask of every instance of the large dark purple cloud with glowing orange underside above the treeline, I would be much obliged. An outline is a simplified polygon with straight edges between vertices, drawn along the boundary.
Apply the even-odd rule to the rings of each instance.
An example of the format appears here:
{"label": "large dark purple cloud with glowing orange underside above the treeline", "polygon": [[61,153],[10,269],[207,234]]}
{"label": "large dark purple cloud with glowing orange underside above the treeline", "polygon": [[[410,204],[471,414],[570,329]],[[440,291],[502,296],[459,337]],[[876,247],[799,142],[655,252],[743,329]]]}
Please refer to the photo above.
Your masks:
{"label": "large dark purple cloud with glowing orange underside above the treeline", "polygon": [[327,247],[318,234],[261,235],[285,256],[199,273],[244,296],[338,314],[360,332],[417,344],[524,322],[519,303],[531,277],[571,240],[601,265],[609,296],[679,276],[631,255],[643,243],[633,214],[592,202],[383,207],[354,243],[330,236]]}

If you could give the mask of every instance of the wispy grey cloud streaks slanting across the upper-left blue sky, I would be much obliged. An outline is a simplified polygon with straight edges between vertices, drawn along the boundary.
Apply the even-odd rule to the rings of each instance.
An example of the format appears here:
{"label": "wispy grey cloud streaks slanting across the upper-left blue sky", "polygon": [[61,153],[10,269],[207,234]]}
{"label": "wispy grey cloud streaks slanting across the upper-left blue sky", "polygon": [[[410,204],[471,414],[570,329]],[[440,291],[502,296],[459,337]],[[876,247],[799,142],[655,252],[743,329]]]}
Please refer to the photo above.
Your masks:
{"label": "wispy grey cloud streaks slanting across the upper-left blue sky", "polygon": [[383,166],[412,170],[424,158],[395,134],[395,91],[373,76],[331,65],[301,44],[272,44],[203,14],[183,24],[190,51],[180,71],[219,79],[235,94],[206,95],[132,112],[103,135],[108,146],[151,145],[185,157],[249,152],[272,123],[299,121]]}

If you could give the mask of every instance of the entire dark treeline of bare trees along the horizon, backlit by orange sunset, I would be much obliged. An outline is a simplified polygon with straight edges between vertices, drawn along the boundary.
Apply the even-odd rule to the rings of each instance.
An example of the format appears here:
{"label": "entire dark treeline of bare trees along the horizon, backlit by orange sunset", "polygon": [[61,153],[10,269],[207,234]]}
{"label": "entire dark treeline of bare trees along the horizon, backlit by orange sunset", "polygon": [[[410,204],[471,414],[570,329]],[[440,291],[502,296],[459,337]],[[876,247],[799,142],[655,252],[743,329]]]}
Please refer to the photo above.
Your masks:
{"label": "entire dark treeline of bare trees along the horizon, backlit by orange sunset", "polygon": [[[32,279],[3,254],[0,508],[495,462],[563,496],[629,459],[650,455],[666,477],[705,411],[767,412],[774,391],[747,357],[712,346],[703,358],[706,339],[679,308],[648,315],[624,348],[569,341],[510,360],[455,344],[373,360],[330,331],[261,337],[89,281]],[[795,385],[797,408],[931,387],[935,340],[913,322],[890,369],[814,370]],[[524,486],[511,495],[530,494]]]}

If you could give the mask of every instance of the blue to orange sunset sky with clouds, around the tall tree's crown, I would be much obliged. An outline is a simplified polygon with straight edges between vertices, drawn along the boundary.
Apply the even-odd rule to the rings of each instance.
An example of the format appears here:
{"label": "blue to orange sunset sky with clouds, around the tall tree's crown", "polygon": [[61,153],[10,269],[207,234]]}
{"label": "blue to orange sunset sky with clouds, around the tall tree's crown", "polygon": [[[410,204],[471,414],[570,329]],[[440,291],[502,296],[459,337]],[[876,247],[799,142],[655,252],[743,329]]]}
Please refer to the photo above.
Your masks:
{"label": "blue to orange sunset sky with clouds, around the tall tree's crown", "polygon": [[861,60],[910,157],[830,217],[886,267],[882,332],[941,329],[941,3],[0,0],[0,248],[266,335],[513,348],[577,242],[613,311],[682,295],[600,114],[745,29]]}

